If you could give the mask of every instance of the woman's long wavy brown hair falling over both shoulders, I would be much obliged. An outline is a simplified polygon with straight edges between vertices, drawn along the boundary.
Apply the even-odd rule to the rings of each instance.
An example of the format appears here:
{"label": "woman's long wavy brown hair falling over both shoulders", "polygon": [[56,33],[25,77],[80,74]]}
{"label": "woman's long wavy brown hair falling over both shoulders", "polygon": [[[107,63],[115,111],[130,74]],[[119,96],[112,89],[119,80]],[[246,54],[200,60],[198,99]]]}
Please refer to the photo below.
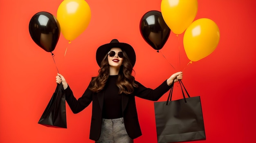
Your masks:
{"label": "woman's long wavy brown hair falling over both shoulders", "polygon": [[[119,88],[119,94],[131,94],[134,92],[134,88],[138,87],[135,83],[135,78],[132,76],[132,64],[128,58],[125,51],[123,51],[123,64],[120,67],[118,78],[117,78],[117,87]],[[99,69],[99,75],[92,79],[90,84],[90,90],[93,92],[101,91],[108,80],[109,76],[109,64],[108,64],[108,54],[105,55],[101,62],[101,68]]]}

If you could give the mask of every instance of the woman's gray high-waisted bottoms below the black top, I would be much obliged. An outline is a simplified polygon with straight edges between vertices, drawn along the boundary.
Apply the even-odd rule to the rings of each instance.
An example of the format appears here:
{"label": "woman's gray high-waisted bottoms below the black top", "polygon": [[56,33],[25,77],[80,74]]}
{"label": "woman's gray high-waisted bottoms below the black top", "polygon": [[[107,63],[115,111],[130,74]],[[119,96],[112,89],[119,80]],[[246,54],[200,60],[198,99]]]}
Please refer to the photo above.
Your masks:
{"label": "woman's gray high-waisted bottoms below the black top", "polygon": [[133,143],[124,127],[124,118],[102,119],[101,136],[95,143]]}

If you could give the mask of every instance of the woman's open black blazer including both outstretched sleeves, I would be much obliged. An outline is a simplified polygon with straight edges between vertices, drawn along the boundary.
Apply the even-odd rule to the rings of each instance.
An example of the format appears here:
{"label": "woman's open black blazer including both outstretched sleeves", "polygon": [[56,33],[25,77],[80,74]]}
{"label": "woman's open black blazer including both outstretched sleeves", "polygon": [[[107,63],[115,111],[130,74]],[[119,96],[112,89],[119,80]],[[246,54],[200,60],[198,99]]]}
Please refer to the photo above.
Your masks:
{"label": "woman's open black blazer including both outstretched sleeves", "polygon": [[[135,139],[142,135],[135,104],[135,96],[151,101],[157,101],[160,97],[162,97],[162,95],[164,95],[164,93],[166,93],[171,88],[171,86],[167,85],[166,81],[164,81],[154,90],[151,88],[146,88],[137,81],[136,83],[138,84],[138,88],[135,88],[135,91],[131,95],[121,95],[124,125],[127,134],[132,139]],[[92,92],[90,89],[87,88],[83,93],[82,97],[77,100],[74,97],[70,86],[68,86],[67,89],[65,89],[65,95],[66,101],[70,106],[70,109],[75,114],[81,112],[92,102],[90,139],[94,141],[99,140],[101,134],[104,91],[96,93]]]}

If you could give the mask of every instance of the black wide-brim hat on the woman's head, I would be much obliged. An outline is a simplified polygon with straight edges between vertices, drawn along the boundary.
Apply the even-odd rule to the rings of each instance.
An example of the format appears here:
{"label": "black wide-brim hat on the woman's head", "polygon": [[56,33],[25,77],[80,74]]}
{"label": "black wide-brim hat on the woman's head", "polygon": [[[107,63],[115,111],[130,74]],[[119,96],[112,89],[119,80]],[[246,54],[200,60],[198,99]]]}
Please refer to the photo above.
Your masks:
{"label": "black wide-brim hat on the woman's head", "polygon": [[99,66],[101,66],[101,61],[105,55],[110,51],[111,48],[121,48],[122,51],[125,51],[130,59],[132,67],[136,62],[136,54],[132,46],[127,43],[120,43],[117,39],[111,40],[110,43],[99,46],[96,52],[96,61]]}

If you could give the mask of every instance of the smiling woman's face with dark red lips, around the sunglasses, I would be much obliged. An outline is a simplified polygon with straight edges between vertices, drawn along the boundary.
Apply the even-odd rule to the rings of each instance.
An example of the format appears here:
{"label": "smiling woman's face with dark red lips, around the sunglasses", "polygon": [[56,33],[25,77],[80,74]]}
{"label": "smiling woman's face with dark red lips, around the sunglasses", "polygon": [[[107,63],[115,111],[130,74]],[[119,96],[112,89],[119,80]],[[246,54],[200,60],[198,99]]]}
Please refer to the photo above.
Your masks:
{"label": "smiling woman's face with dark red lips, around the sunglasses", "polygon": [[118,52],[122,52],[121,48],[111,48],[110,51],[114,51],[115,55],[110,57],[108,55],[108,64],[111,67],[120,68],[120,66],[123,64],[123,58],[118,56]]}

